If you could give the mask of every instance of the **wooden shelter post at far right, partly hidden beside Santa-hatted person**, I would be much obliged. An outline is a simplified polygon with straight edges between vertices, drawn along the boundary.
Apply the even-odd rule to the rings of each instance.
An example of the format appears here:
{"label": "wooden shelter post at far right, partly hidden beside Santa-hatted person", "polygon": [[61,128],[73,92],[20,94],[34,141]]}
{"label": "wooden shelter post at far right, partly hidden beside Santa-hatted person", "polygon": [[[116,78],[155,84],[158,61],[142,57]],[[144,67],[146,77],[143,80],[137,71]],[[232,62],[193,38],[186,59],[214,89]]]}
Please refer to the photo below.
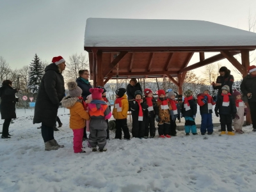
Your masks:
{"label": "wooden shelter post at far right, partly hidden beside Santa-hatted person", "polygon": [[[241,51],[241,60],[242,60],[242,65],[245,68],[245,72],[243,73],[243,77],[247,76],[247,69],[250,66],[250,54],[248,50],[242,50]],[[246,97],[246,96],[245,96]],[[252,118],[251,118],[251,113],[250,113],[250,106],[248,104],[248,102],[244,102],[244,104],[246,105],[246,107],[249,109],[248,113],[246,114],[246,121],[245,124],[246,125],[250,125],[252,124]]]}

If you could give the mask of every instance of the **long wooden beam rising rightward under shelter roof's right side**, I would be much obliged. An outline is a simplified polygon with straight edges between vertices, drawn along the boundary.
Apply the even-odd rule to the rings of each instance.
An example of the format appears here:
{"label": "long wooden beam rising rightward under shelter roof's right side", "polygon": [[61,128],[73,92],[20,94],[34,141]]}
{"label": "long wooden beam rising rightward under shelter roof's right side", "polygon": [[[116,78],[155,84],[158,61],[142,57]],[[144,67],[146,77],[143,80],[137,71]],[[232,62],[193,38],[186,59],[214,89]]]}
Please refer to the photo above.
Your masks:
{"label": "long wooden beam rising rightward under shelter roof's right side", "polygon": [[[236,54],[239,54],[239,53],[240,52],[230,52],[230,54],[232,54],[232,56],[234,56]],[[208,65],[210,63],[214,63],[216,61],[220,61],[220,60],[223,60],[223,59],[225,59],[225,56],[223,56],[223,54],[216,54],[215,56],[212,56],[211,58],[205,59],[204,61],[199,61],[198,63],[190,65],[189,67],[182,68],[181,70],[179,70],[179,74],[182,73],[182,72],[193,70],[193,69],[198,68],[198,67],[203,67],[205,65]]]}

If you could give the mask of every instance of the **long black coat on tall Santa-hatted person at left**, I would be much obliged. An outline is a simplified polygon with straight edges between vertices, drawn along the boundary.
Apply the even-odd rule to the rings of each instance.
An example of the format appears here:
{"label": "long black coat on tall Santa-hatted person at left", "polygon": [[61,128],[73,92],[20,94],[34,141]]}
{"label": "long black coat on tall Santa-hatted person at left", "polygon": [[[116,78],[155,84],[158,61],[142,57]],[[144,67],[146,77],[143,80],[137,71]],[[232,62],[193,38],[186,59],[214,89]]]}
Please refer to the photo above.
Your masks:
{"label": "long black coat on tall Santa-hatted person at left", "polygon": [[61,99],[65,95],[64,79],[58,66],[51,63],[45,67],[35,104],[33,124],[42,123],[49,127],[56,124]]}

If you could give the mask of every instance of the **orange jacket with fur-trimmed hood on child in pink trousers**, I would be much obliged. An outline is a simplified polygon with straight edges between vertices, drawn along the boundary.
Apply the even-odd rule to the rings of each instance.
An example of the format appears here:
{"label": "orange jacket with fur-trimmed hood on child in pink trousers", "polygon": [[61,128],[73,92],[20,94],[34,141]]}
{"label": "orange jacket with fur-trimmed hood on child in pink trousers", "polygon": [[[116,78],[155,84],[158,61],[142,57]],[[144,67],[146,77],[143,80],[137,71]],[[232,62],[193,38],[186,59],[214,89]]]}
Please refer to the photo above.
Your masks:
{"label": "orange jacket with fur-trimmed hood on child in pink trousers", "polygon": [[61,100],[62,106],[69,109],[69,127],[71,129],[81,129],[85,127],[86,120],[90,120],[89,114],[84,110],[82,100],[77,97],[64,97]]}

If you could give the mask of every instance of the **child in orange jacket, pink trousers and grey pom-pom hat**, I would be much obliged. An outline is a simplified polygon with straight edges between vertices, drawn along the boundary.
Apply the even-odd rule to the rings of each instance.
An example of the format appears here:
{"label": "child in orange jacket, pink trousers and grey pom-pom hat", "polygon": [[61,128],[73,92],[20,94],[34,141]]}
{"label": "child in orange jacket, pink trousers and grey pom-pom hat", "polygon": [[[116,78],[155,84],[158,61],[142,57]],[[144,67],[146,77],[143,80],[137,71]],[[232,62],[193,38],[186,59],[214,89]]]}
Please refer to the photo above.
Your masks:
{"label": "child in orange jacket, pink trousers and grey pom-pom hat", "polygon": [[85,153],[83,151],[83,133],[86,120],[90,120],[89,114],[85,111],[85,103],[81,97],[82,90],[75,81],[67,83],[68,95],[61,100],[62,106],[70,111],[69,126],[74,133],[74,152]]}

